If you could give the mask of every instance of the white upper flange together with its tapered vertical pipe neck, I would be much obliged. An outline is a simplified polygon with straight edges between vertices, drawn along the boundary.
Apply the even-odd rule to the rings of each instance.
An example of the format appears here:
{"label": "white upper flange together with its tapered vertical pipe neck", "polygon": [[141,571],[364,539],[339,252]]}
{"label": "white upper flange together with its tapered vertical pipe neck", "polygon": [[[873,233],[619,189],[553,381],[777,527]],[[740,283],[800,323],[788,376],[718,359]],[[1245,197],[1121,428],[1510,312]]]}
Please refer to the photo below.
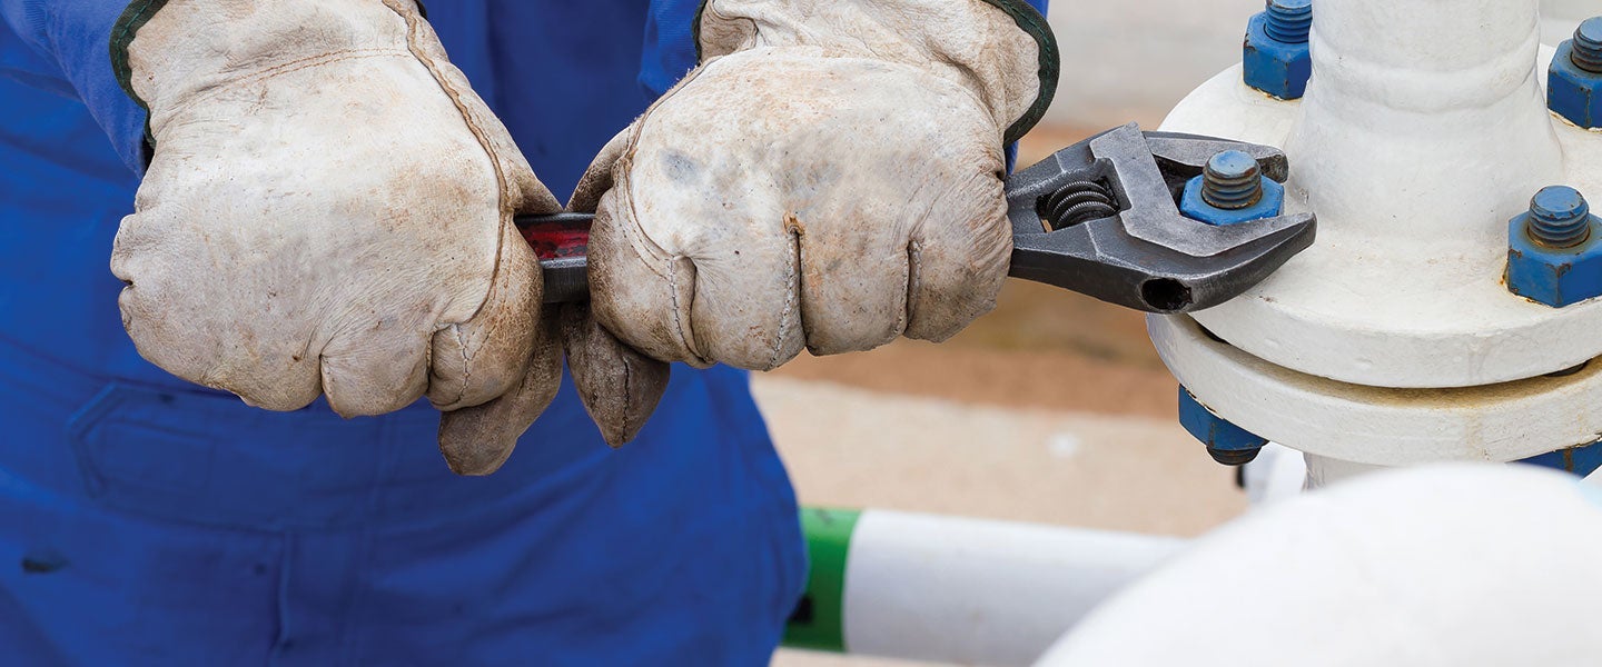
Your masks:
{"label": "white upper flange together with its tapered vertical pipe neck", "polygon": [[1602,353],[1602,301],[1551,309],[1501,283],[1507,219],[1535,190],[1602,200],[1602,134],[1546,110],[1535,2],[1315,11],[1304,101],[1272,101],[1237,69],[1163,123],[1283,146],[1291,208],[1318,213],[1314,248],[1197,320],[1282,366],[1386,387],[1503,382]]}

